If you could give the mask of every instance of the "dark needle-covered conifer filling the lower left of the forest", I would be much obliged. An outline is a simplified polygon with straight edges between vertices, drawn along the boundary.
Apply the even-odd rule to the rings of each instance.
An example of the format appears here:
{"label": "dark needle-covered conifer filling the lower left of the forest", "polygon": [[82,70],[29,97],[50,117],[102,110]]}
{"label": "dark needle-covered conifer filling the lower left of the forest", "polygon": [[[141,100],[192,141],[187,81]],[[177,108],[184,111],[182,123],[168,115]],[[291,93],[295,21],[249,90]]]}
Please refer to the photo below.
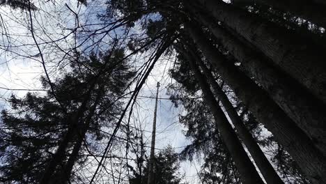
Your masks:
{"label": "dark needle-covered conifer filling the lower left of the forest", "polygon": [[39,183],[46,171],[52,171],[47,183],[70,179],[86,134],[102,139],[100,129],[114,125],[114,116],[121,112],[119,98],[134,76],[127,60],[121,60],[123,52],[112,49],[72,61],[70,72],[54,82],[54,93],[65,109],[54,101],[45,79],[45,96],[28,93],[22,99],[11,98],[13,112],[2,112],[3,181]]}

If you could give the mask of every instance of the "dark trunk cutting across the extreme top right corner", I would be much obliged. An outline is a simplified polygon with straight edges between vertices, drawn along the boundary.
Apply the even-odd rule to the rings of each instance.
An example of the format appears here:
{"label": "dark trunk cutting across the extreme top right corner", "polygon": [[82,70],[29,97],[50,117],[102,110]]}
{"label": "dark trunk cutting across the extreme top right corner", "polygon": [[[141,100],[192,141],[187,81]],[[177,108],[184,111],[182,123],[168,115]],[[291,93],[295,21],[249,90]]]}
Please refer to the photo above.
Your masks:
{"label": "dark trunk cutting across the extreme top right corner", "polygon": [[258,3],[265,6],[272,6],[284,13],[290,12],[296,17],[309,20],[318,26],[326,28],[326,6],[316,4],[309,0],[233,0],[235,4],[251,4]]}

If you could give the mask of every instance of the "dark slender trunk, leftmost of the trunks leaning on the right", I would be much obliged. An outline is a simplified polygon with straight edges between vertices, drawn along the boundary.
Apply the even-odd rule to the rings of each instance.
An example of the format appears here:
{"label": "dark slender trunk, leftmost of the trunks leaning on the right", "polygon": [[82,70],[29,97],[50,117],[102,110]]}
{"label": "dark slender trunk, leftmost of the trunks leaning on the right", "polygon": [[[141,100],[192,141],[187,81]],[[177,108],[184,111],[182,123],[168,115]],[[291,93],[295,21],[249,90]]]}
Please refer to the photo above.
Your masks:
{"label": "dark slender trunk, leftmost of the trunks leaning on the right", "polygon": [[228,148],[229,153],[231,154],[232,159],[237,166],[237,169],[240,173],[240,178],[243,183],[251,184],[251,183],[263,183],[261,177],[259,176],[254,164],[249,159],[247,153],[244,151],[242,144],[240,143],[237,135],[230,123],[222,112],[222,109],[219,107],[217,100],[215,99],[212,91],[210,91],[210,86],[206,82],[205,77],[199,71],[199,68],[196,67],[196,61],[192,58],[189,53],[184,53],[184,56],[189,61],[189,66],[194,71],[194,75],[196,76],[197,81],[199,82],[199,86],[201,86],[201,90],[203,91],[203,95],[205,98],[205,102],[207,102],[208,107],[215,118],[216,126],[221,133],[222,139]]}

